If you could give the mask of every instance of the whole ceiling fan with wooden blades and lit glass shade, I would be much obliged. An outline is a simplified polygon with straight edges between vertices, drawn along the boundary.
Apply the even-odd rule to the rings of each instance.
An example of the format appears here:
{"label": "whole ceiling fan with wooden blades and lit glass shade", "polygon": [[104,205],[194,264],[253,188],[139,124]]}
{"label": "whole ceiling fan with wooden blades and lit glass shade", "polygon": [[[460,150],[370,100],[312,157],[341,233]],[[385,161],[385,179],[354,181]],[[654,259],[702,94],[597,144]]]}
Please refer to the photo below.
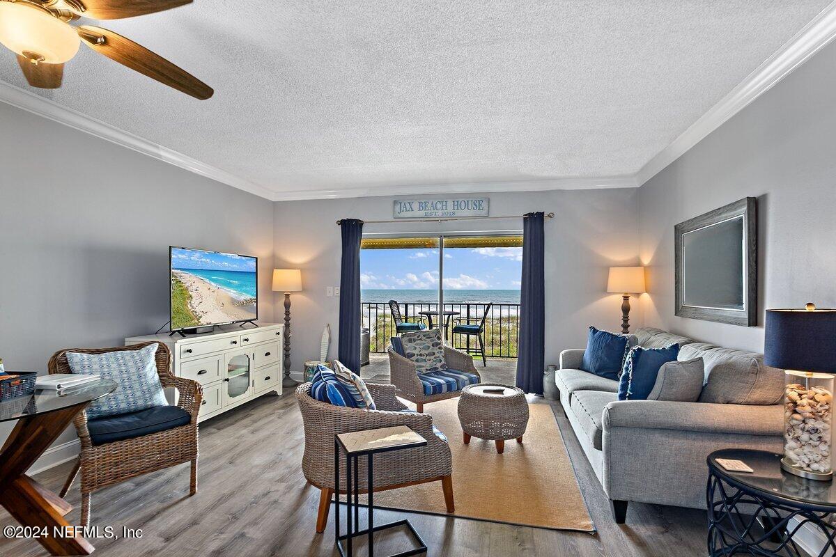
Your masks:
{"label": "whole ceiling fan with wooden blades and lit glass shade", "polygon": [[64,63],[84,43],[161,84],[209,99],[211,87],[166,58],[108,29],[69,24],[80,17],[132,18],[188,3],[191,0],[0,0],[0,43],[18,55],[23,75],[33,87],[59,88]]}

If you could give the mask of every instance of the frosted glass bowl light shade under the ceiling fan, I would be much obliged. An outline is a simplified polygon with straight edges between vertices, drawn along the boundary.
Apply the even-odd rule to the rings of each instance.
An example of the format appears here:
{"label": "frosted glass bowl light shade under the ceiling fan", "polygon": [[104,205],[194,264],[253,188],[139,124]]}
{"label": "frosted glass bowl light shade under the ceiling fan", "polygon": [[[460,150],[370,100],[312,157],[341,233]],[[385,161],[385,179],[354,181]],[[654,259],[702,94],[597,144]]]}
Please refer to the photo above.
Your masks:
{"label": "frosted glass bowl light shade under the ceiling fan", "polygon": [[64,63],[79,52],[79,35],[67,23],[26,3],[0,2],[0,43],[13,53],[41,62]]}

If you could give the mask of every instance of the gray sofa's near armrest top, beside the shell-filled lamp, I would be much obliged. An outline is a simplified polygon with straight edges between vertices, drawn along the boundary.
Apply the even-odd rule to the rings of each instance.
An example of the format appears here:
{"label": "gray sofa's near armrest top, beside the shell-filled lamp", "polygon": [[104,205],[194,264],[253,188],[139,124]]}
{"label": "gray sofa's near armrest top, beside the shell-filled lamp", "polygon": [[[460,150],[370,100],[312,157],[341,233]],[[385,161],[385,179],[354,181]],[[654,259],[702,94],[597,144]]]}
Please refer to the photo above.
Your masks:
{"label": "gray sofa's near armrest top, beside the shell-filled lamp", "polygon": [[612,428],[674,429],[701,433],[783,435],[783,408],[772,404],[676,403],[623,400],[604,408],[604,431]]}

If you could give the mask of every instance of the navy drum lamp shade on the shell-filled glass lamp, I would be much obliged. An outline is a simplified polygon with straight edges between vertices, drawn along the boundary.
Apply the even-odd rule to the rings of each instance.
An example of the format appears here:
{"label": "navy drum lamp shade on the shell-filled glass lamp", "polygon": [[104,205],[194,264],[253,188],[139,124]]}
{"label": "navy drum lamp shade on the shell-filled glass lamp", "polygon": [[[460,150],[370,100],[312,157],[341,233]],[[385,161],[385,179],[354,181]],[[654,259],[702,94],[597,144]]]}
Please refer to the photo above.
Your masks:
{"label": "navy drum lamp shade on the shell-filled glass lamp", "polygon": [[779,369],[836,372],[836,310],[767,310],[763,362]]}

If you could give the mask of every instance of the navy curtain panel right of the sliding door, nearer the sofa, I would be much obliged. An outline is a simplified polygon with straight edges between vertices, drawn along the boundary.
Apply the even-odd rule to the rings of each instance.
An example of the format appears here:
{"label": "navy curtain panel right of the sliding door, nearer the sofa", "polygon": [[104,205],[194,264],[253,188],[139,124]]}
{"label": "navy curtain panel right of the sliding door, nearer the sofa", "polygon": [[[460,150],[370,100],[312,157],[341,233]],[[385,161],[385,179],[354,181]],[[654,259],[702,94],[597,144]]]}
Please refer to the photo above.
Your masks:
{"label": "navy curtain panel right of the sliding door, nearer the sofa", "polygon": [[523,286],[520,288],[517,387],[543,394],[546,343],[546,277],[543,213],[523,218]]}

